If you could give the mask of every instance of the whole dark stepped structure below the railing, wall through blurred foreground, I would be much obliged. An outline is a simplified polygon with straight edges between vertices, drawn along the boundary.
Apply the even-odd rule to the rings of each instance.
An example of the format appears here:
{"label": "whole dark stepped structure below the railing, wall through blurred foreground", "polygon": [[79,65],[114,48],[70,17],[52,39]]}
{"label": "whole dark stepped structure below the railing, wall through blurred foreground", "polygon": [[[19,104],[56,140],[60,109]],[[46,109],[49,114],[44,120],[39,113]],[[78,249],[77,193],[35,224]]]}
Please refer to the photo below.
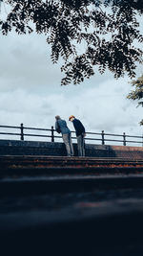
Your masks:
{"label": "whole dark stepped structure below the railing, wall through blurred foreground", "polygon": [[73,147],[68,157],[61,142],[0,140],[1,249],[142,255],[143,148]]}

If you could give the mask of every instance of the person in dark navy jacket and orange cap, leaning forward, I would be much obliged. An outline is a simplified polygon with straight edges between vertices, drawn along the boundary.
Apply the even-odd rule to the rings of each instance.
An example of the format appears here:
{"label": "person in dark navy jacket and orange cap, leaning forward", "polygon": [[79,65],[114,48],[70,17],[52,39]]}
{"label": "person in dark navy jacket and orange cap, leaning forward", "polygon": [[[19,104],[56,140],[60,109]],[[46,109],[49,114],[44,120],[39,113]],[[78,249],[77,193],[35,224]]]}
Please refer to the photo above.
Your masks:
{"label": "person in dark navy jacket and orange cap, leaning forward", "polygon": [[85,156],[85,140],[86,130],[82,123],[76,119],[73,115],[69,117],[69,121],[72,122],[73,127],[75,128],[76,138],[77,138],[77,150],[78,156]]}

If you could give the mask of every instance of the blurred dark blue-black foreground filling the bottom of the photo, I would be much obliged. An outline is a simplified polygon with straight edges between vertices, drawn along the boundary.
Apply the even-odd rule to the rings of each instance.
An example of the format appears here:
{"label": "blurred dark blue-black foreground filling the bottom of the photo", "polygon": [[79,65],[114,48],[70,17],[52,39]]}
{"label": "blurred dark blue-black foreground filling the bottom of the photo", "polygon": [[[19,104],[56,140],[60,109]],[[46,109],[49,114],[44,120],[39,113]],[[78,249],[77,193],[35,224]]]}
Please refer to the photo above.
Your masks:
{"label": "blurred dark blue-black foreground filling the bottom of the photo", "polygon": [[142,182],[142,175],[1,179],[0,255],[143,255]]}

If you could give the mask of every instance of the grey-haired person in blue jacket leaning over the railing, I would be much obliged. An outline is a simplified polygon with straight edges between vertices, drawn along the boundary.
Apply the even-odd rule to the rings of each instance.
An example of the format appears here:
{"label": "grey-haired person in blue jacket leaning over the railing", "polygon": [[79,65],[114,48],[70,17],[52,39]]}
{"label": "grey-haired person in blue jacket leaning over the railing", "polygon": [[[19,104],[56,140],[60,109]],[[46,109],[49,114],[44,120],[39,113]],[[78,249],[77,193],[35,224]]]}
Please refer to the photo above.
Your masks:
{"label": "grey-haired person in blue jacket leaning over the railing", "polygon": [[74,151],[73,151],[73,146],[72,146],[72,135],[71,135],[71,130],[70,128],[67,127],[67,123],[65,120],[61,119],[60,116],[55,116],[55,130],[58,133],[62,133],[63,141],[66,146],[67,150],[67,155],[68,156],[73,156]]}

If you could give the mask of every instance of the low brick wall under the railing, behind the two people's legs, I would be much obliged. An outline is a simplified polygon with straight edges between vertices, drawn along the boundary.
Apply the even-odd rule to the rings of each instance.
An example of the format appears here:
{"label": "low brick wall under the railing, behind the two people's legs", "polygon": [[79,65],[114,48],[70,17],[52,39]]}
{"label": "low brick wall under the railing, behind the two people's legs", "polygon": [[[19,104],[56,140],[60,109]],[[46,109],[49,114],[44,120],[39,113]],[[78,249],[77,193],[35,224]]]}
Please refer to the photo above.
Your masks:
{"label": "low brick wall under the railing, behind the two people's legs", "polygon": [[[73,144],[77,155],[77,145]],[[66,155],[65,145],[58,142],[0,140],[0,155]],[[88,157],[124,157],[143,159],[142,147],[86,144]]]}

